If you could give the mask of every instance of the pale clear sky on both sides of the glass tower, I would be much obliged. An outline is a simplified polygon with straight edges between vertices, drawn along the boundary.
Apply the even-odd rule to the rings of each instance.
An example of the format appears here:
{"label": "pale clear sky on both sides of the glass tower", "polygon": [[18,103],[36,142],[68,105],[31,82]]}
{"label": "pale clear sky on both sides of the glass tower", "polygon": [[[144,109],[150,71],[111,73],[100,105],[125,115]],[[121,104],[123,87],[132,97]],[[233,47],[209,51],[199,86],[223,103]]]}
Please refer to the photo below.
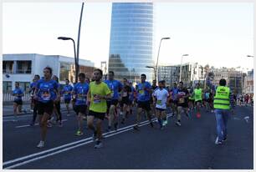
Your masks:
{"label": "pale clear sky on both sides of the glass tower", "polygon": [[[3,3],[3,53],[74,56],[81,3]],[[155,3],[159,63],[253,68],[253,3]],[[109,56],[111,3],[85,3],[80,58],[100,66]]]}

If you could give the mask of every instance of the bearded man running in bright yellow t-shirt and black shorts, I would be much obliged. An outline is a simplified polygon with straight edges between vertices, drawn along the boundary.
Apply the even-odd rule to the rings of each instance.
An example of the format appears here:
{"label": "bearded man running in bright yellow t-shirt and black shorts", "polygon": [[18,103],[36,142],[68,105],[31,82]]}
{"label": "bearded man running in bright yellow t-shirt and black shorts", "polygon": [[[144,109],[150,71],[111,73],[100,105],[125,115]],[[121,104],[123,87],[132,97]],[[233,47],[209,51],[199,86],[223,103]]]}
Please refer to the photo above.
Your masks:
{"label": "bearded man running in bright yellow t-shirt and black shorts", "polygon": [[[87,101],[90,101],[90,111],[87,116],[87,126],[94,132],[92,137],[93,139],[95,139],[97,135],[95,149],[102,147],[101,124],[105,119],[105,113],[107,111],[106,99],[111,99],[111,91],[108,85],[101,82],[102,75],[102,70],[99,68],[94,70],[95,81],[90,83],[90,89],[87,94]],[[93,124],[95,118],[97,119],[96,129]]]}

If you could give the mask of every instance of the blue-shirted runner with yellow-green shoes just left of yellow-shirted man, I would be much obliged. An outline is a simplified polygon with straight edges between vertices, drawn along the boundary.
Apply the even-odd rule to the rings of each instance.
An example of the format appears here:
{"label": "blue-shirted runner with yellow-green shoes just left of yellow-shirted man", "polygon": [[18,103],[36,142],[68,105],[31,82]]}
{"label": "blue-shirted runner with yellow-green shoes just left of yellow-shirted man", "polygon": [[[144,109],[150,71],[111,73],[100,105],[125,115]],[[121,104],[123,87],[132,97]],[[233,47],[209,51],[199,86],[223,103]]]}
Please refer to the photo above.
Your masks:
{"label": "blue-shirted runner with yellow-green shoes just left of yellow-shirted man", "polygon": [[86,98],[89,90],[89,84],[85,82],[85,74],[79,73],[79,83],[74,84],[73,96],[75,97],[74,110],[77,114],[78,130],[75,135],[83,135],[83,116],[86,114]]}

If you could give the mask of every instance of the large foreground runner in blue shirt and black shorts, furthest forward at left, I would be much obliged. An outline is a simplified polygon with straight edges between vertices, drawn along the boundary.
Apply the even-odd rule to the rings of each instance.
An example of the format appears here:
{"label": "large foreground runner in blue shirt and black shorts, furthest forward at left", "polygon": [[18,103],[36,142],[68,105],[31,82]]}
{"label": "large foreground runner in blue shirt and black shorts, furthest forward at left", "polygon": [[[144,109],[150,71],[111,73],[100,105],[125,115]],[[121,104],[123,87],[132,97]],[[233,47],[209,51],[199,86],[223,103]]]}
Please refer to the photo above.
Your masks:
{"label": "large foreground runner in blue shirt and black shorts, furthest forward at left", "polygon": [[[51,79],[53,69],[44,68],[44,79],[38,80],[35,99],[38,100],[38,115],[41,128],[41,141],[38,148],[43,148],[47,133],[47,121],[54,111],[54,100],[59,99],[59,84]],[[54,94],[56,99],[54,99]]]}

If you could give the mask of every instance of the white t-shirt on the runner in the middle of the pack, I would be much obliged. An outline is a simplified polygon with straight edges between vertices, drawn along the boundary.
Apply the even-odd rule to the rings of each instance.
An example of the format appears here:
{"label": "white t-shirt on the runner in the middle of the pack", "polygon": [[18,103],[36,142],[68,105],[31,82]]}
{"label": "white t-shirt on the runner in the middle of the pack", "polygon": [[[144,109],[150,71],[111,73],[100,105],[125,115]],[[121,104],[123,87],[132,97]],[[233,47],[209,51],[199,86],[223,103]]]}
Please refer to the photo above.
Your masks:
{"label": "white t-shirt on the runner in the middle of the pack", "polygon": [[156,97],[156,108],[166,109],[166,101],[169,96],[168,91],[166,89],[156,89],[153,96]]}

